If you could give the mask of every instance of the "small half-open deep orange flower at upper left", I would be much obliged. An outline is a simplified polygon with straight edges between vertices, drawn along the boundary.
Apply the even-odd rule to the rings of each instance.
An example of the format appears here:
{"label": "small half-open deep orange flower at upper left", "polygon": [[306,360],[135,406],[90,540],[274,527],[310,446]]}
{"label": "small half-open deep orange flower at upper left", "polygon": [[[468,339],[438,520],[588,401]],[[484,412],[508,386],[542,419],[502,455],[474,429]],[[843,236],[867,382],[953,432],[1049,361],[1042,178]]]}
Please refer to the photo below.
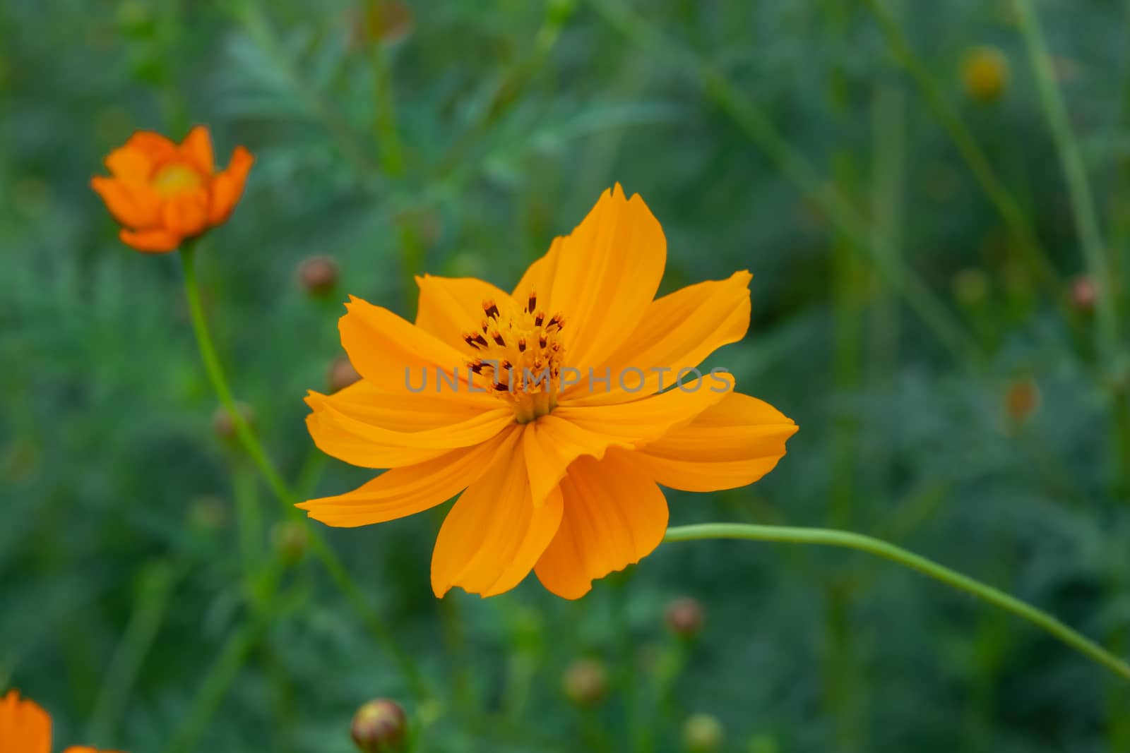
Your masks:
{"label": "small half-open deep orange flower at upper left", "polygon": [[253,161],[251,152],[236,147],[227,169],[216,172],[211,137],[202,125],[180,145],[140,131],[106,157],[112,177],[94,177],[90,187],[123,226],[123,243],[160,254],[226,222]]}

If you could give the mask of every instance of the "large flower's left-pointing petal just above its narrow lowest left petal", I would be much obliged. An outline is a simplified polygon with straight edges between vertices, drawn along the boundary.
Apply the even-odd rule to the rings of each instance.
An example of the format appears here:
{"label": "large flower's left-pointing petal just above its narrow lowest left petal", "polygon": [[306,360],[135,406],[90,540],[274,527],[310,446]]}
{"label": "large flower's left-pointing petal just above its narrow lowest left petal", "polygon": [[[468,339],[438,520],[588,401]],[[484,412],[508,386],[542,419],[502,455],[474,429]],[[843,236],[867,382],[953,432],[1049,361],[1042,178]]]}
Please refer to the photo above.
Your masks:
{"label": "large flower's left-pointing petal just above its narrow lowest left petal", "polygon": [[359,383],[331,395],[311,393],[306,399],[314,412],[306,419],[318,447],[339,459],[362,467],[390,469],[423,463],[449,449],[469,447],[495,437],[514,422],[508,408],[495,403],[493,410],[467,409],[443,396],[364,394]]}

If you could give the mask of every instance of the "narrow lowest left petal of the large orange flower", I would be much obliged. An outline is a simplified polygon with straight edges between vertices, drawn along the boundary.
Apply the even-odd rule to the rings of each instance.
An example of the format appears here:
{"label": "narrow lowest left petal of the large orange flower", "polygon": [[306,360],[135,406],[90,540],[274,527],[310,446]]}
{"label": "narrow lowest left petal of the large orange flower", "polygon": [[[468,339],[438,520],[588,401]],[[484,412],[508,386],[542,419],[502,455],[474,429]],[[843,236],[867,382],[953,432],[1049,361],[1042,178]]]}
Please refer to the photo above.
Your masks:
{"label": "narrow lowest left petal of the large orange flower", "polygon": [[385,471],[359,489],[297,505],[310,517],[331,526],[384,523],[441,505],[475,483],[512,443],[499,434],[475,447],[463,447],[434,459]]}

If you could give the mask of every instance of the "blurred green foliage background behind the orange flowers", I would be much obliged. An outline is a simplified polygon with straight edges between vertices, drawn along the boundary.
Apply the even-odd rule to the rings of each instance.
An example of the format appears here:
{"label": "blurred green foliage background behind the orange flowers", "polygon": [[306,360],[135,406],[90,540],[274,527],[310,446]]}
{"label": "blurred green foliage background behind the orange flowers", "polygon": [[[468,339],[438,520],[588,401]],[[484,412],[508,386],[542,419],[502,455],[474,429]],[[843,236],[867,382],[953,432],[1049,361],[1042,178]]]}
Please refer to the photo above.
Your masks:
{"label": "blurred green foliage background behind the orange flowers", "polygon": [[[257,155],[200,249],[206,305],[286,476],[333,493],[370,473],[319,457],[302,396],[325,388],[346,294],[410,316],[415,273],[508,287],[620,181],[663,224],[663,291],[755,273],[750,333],[712,361],[801,426],[756,487],[670,493],[672,523],[872,533],[1125,655],[1128,9],[1035,5],[1115,352],[1072,298],[1077,217],[1011,2],[6,0],[0,688],[60,743],[133,753],[345,753],[375,697],[426,753],[678,751],[693,713],[741,753],[1130,751],[1130,694],[1098,667],[858,554],[664,545],[576,603],[533,579],[438,602],[438,513],[329,532],[417,697],[215,436],[176,259],[121,245],[88,187],[136,129],[206,123],[219,154]],[[996,97],[963,85],[983,46],[1008,65]],[[314,254],[340,265],[328,298],[296,281]],[[294,550],[266,613],[238,515],[245,545]],[[688,641],[662,616],[684,594],[706,614]],[[584,707],[562,685],[581,658],[609,684]],[[201,693],[215,713],[193,716]]]}

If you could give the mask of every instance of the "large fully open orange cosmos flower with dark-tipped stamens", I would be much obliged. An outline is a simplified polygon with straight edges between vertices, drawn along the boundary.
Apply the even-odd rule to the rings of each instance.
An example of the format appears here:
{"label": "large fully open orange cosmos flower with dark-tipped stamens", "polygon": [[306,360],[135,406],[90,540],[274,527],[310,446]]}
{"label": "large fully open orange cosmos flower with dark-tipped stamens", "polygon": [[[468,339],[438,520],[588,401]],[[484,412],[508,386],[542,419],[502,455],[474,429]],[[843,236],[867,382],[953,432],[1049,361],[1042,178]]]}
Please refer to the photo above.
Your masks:
{"label": "large fully open orange cosmos flower with dark-tipped stamens", "polygon": [[749,326],[748,272],[655,299],[666,261],[659,222],[617,184],[513,294],[417,278],[415,325],[353,298],[341,342],[363,378],[311,393],[306,423],[323,452],[390,470],[299,507],[360,526],[462,492],[432,558],[437,596],[499,594],[532,569],[577,598],[637,562],[667,529],[660,484],[751,483],[797,430],[728,374],[661,392]]}

